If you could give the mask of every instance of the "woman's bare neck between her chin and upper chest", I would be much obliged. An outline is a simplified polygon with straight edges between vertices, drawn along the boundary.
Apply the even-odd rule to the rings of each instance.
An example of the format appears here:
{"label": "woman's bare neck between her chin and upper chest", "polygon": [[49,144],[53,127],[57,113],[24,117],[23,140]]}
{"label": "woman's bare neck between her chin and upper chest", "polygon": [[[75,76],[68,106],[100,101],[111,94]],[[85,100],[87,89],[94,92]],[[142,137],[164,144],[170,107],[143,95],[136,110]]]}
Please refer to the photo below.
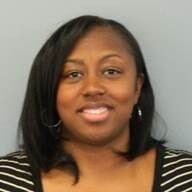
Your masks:
{"label": "woman's bare neck between her chin and upper chest", "polygon": [[74,157],[82,175],[99,176],[127,164],[127,160],[116,153],[127,151],[127,146],[127,139],[104,146],[67,142],[65,150]]}

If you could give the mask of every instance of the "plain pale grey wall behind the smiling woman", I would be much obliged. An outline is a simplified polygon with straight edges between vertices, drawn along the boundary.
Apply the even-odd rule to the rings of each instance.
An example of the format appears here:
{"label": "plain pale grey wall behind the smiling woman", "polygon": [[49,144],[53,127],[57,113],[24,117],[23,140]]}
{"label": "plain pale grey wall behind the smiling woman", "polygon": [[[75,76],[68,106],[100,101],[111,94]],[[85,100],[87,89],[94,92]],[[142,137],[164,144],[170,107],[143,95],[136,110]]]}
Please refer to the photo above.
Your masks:
{"label": "plain pale grey wall behind the smiling woman", "polygon": [[[157,137],[192,151],[192,1],[0,1],[0,155],[16,149],[16,131],[32,61],[63,22],[113,18],[139,41],[154,87]],[[30,134],[30,133],[29,133]]]}

